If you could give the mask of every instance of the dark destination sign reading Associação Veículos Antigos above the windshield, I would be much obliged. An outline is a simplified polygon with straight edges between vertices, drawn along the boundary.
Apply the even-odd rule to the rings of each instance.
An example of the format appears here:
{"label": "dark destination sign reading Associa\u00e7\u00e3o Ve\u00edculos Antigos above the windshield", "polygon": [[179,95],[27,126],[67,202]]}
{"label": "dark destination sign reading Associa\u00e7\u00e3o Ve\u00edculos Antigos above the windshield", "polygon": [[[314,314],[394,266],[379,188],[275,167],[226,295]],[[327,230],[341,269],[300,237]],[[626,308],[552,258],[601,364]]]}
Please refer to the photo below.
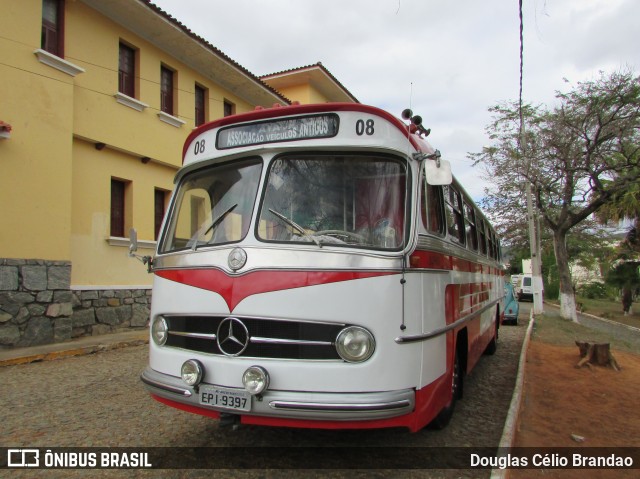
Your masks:
{"label": "dark destination sign reading Associa\u00e7\u00e3o Ve\u00edculos Antigos above the windshield", "polygon": [[282,141],[331,138],[338,134],[338,115],[300,116],[268,120],[221,129],[216,139],[219,150]]}

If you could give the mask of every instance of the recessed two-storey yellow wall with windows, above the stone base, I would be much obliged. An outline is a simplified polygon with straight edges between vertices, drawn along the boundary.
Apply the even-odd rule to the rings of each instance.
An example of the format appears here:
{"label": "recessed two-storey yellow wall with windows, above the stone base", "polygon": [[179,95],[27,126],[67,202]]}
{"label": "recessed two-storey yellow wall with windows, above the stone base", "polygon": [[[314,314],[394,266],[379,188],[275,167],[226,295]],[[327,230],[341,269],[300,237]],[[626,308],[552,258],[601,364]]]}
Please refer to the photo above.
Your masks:
{"label": "recessed two-storey yellow wall with windows, above the stone base", "polygon": [[[71,286],[150,286],[152,277],[129,258],[126,242],[109,241],[110,181],[127,183],[125,230],[135,227],[143,242],[154,241],[154,190],[169,192],[182,164],[182,145],[195,127],[195,84],[207,87],[209,118],[223,116],[223,101],[248,111],[246,104],[223,91],[177,59],[103,17],[81,2],[68,3],[66,56],[85,68],[75,87],[73,142],[73,209]],[[136,99],[148,105],[137,111],[116,101],[120,41],[138,49]],[[160,68],[175,70],[173,126],[161,121]],[[106,146],[98,151],[96,143]],[[149,158],[147,163],[142,158]],[[125,247],[123,247],[125,246]],[[141,251],[153,254],[152,249]]]}

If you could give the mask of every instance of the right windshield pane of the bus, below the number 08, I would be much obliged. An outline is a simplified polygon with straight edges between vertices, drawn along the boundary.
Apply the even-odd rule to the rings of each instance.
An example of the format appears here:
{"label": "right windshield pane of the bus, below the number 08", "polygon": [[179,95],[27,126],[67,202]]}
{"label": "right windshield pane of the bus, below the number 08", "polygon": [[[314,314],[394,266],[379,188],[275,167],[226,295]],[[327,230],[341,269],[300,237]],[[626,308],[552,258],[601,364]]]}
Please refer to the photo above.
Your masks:
{"label": "right windshield pane of the bus, below the number 08", "polygon": [[258,238],[397,250],[405,241],[406,164],[368,155],[288,155],[271,163]]}

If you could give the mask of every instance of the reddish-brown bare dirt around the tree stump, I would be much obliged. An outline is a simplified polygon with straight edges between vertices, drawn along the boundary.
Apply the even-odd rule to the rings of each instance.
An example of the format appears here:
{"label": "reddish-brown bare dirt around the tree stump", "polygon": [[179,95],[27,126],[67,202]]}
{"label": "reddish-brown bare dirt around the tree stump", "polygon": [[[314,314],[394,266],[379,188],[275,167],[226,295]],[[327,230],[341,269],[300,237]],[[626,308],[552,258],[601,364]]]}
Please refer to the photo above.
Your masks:
{"label": "reddish-brown bare dirt around the tree stump", "polygon": [[[622,368],[576,368],[578,347],[530,343],[516,447],[640,447],[640,356],[616,350]],[[566,341],[565,341],[566,342]],[[636,466],[637,467],[637,466]],[[512,469],[509,478],[640,477],[639,469]]]}

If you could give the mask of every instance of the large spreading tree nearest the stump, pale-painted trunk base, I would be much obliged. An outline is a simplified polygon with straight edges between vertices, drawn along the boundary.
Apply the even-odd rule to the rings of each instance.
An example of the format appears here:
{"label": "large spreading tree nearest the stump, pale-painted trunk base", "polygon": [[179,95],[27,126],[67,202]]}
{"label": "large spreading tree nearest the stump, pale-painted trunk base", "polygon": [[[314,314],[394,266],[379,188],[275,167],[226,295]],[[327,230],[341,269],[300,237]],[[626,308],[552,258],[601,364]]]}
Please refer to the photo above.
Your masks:
{"label": "large spreading tree nearest the stump, pale-painted trunk base", "polygon": [[493,144],[470,157],[493,182],[484,206],[506,223],[522,221],[525,185],[532,185],[553,238],[560,312],[575,321],[567,237],[640,178],[640,79],[631,72],[601,73],[557,92],[556,99],[551,108],[524,105],[524,134],[517,104],[490,108]]}

